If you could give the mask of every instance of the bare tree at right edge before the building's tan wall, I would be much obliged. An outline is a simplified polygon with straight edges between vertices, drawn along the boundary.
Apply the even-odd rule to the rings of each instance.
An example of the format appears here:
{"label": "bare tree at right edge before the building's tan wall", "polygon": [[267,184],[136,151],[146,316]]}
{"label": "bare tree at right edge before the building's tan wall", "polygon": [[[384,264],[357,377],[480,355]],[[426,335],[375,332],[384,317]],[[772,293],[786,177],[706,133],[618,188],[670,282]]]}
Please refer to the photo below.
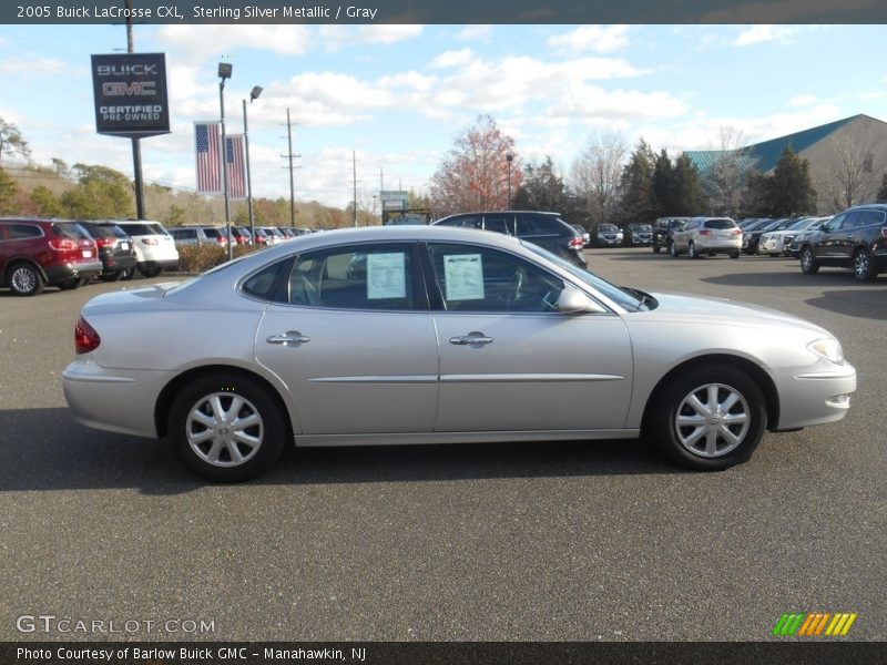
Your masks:
{"label": "bare tree at right edge before the building's tan wall", "polygon": [[814,176],[820,201],[828,212],[840,212],[877,197],[887,167],[887,145],[870,124],[844,127],[829,139],[830,168],[822,166]]}

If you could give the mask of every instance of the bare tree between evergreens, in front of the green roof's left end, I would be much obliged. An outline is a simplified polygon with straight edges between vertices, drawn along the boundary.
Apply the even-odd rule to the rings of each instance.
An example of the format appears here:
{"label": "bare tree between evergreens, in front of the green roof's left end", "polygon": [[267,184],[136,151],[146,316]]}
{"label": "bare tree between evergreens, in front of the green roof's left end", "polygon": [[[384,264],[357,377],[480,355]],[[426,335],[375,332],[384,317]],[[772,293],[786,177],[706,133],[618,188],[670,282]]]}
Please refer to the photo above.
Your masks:
{"label": "bare tree between evergreens, in front of the green roof's left end", "polygon": [[734,216],[741,207],[742,191],[753,168],[744,143],[745,136],[736,127],[717,129],[714,163],[702,174],[702,186],[708,193],[710,208],[715,215]]}

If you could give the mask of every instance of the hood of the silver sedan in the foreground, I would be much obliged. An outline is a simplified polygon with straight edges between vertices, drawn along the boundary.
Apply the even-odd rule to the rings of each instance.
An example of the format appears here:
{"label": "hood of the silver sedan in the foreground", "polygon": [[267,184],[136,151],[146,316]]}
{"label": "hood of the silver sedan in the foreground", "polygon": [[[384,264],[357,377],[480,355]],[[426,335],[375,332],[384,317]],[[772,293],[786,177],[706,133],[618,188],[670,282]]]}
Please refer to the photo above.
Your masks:
{"label": "hood of the silver sedan in the foreground", "polygon": [[753,305],[716,298],[711,296],[693,296],[690,294],[652,294],[659,306],[652,311],[659,320],[674,320],[681,323],[724,324],[732,326],[793,326],[807,328],[830,337],[824,328],[803,318]]}

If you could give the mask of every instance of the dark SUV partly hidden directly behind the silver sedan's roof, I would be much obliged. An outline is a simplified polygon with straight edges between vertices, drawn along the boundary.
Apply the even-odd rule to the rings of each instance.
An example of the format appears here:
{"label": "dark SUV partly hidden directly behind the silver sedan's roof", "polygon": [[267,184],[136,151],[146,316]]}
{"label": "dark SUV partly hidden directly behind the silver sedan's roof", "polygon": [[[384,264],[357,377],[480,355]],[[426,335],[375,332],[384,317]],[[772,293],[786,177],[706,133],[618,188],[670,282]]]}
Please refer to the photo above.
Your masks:
{"label": "dark SUV partly hidden directly behind the silver sedan's roof", "polygon": [[552,254],[584,268],[588,259],[582,253],[582,236],[558,213],[504,211],[489,213],[461,213],[434,222],[440,226],[460,226],[495,231],[533,243]]}

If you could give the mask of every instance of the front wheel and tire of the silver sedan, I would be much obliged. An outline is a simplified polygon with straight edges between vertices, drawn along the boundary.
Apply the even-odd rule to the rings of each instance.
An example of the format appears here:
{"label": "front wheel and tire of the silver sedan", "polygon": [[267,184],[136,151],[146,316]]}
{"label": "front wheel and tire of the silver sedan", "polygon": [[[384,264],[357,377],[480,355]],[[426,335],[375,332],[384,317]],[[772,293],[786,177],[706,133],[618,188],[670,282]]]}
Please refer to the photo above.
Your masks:
{"label": "front wheel and tire of the silver sedan", "polygon": [[748,460],[764,437],[764,395],[744,371],[700,366],[680,375],[659,396],[649,419],[656,448],[700,471]]}

